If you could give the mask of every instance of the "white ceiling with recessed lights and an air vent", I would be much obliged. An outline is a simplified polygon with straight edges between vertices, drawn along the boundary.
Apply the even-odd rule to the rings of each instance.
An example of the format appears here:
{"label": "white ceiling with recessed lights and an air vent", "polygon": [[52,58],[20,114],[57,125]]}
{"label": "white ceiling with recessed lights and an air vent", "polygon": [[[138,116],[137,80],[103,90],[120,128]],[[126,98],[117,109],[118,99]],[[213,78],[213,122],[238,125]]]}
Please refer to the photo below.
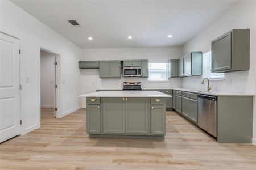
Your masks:
{"label": "white ceiling with recessed lights and an air vent", "polygon": [[[16,1],[81,48],[183,45],[237,1]],[[67,20],[77,20],[73,27]],[[168,38],[168,35],[173,35]],[[88,37],[93,40],[88,40]],[[133,39],[127,39],[133,36]]]}

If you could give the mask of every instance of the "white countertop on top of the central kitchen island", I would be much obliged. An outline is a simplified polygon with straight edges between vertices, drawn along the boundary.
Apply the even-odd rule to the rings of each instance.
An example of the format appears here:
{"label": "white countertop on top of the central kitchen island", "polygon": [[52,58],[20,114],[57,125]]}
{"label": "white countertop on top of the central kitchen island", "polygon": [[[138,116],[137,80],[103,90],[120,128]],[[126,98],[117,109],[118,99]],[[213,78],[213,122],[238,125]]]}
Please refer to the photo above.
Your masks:
{"label": "white countertop on top of the central kitchen island", "polygon": [[99,91],[90,94],[80,95],[79,97],[171,97],[159,91],[141,91],[141,90],[125,90],[125,91]]}

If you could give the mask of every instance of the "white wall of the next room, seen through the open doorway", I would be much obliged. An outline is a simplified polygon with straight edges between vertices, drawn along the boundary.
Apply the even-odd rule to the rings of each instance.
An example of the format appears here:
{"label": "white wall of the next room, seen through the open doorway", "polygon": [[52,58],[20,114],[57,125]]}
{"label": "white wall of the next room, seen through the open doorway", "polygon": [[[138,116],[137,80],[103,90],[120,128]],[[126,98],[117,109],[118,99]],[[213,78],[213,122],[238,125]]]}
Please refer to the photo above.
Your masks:
{"label": "white wall of the next room, seen through the open doorway", "polygon": [[41,50],[41,108],[54,107],[55,55]]}

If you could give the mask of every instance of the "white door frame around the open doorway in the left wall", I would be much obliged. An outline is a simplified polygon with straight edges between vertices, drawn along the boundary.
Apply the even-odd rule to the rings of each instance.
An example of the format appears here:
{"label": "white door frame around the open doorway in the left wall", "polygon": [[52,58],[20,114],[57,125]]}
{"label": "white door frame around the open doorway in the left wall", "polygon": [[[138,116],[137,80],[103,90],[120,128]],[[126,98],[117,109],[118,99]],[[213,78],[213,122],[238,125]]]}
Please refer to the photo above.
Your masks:
{"label": "white door frame around the open doorway in the left wall", "polygon": [[[50,53],[50,54],[53,54],[55,56],[55,62],[57,62],[57,65],[55,66],[55,84],[57,85],[57,88],[56,88],[56,91],[55,91],[55,107],[57,108],[57,111],[55,112],[55,117],[56,118],[61,118],[61,105],[60,105],[60,89],[61,89],[61,86],[60,86],[60,54],[57,54],[55,52],[52,52],[52,50],[48,50],[47,48],[44,48],[44,47],[41,47],[40,48],[40,53],[41,53],[41,50],[43,50],[44,52],[47,52],[47,53]],[[40,58],[41,58],[41,54],[40,54]],[[39,58],[39,113],[40,113],[40,116],[41,116],[41,60]],[[40,117],[40,120],[41,120],[41,117]]]}

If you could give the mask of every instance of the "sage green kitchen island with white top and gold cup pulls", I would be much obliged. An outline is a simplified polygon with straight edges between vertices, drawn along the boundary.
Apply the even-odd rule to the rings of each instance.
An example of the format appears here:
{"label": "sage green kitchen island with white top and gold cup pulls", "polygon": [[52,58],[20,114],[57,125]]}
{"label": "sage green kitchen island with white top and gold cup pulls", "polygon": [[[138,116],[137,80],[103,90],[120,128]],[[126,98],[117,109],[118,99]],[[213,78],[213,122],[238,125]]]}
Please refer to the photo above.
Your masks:
{"label": "sage green kitchen island with white top and gold cup pulls", "polygon": [[159,91],[100,91],[87,97],[90,138],[154,138],[166,135],[166,98]]}

